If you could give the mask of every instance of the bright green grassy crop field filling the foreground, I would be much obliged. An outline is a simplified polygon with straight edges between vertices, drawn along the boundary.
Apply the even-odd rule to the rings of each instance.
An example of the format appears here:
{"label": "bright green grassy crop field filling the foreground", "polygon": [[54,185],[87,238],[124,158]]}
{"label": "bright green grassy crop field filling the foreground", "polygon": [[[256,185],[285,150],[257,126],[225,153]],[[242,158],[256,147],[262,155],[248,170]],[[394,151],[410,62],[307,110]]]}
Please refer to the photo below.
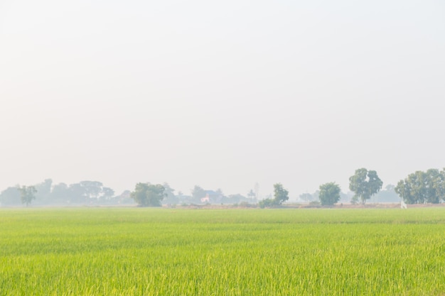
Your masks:
{"label": "bright green grassy crop field filling the foreground", "polygon": [[0,295],[445,295],[445,208],[1,209]]}

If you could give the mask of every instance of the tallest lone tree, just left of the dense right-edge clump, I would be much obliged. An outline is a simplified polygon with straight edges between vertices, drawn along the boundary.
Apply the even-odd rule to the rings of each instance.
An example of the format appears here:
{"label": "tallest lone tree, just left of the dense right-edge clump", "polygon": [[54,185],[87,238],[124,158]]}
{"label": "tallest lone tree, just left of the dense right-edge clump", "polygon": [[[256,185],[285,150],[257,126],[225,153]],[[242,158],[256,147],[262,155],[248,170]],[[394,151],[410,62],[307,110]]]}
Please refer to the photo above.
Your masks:
{"label": "tallest lone tree, just left of the dense right-edge clump", "polygon": [[351,202],[360,201],[365,204],[366,199],[370,199],[372,195],[382,189],[383,182],[377,176],[375,170],[366,170],[359,168],[355,170],[355,174],[349,178],[349,190],[354,192]]}

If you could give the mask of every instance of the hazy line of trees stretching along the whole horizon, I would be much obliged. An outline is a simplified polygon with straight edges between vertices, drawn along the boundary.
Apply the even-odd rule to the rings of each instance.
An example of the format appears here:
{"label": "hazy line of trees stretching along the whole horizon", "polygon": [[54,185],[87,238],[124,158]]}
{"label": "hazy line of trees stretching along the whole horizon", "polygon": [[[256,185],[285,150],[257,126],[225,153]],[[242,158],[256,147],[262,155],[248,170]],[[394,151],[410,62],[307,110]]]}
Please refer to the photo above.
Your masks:
{"label": "hazy line of trees stretching along the whole horizon", "polygon": [[[353,192],[350,202],[365,204],[368,199],[380,192],[382,180],[375,170],[359,168],[349,177],[349,190]],[[445,169],[429,169],[426,172],[417,171],[400,180],[397,186],[389,185],[387,189],[394,190],[407,204],[438,204],[444,202],[445,197]],[[132,204],[140,207],[159,207],[161,204],[186,203],[220,203],[220,204],[258,204],[259,207],[279,207],[289,200],[289,191],[281,183],[274,185],[274,196],[258,200],[257,194],[250,190],[247,197],[242,194],[226,196],[223,191],[204,190],[195,185],[191,195],[182,192],[174,194],[168,183],[151,184],[139,182],[134,190],[126,190],[122,194],[114,194],[114,190],[97,181],[82,181],[67,185],[59,183],[53,185],[51,179],[33,186],[9,187],[0,193],[0,204],[10,206],[26,204],[36,201],[36,204]],[[311,194],[301,194],[300,197],[309,201]],[[341,188],[336,182],[327,182],[319,186],[316,198],[321,205],[333,205],[341,199]]]}

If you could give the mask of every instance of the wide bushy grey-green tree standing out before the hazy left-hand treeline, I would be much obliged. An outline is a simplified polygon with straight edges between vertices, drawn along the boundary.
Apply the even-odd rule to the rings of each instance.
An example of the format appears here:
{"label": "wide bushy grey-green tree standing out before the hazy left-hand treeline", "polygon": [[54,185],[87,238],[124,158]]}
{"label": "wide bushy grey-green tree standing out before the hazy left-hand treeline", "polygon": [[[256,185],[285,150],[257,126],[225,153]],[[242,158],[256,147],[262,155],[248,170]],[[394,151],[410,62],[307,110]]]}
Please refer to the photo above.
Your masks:
{"label": "wide bushy grey-green tree standing out before the hazy left-hand treeline", "polygon": [[161,207],[161,200],[166,196],[164,190],[160,184],[137,183],[130,197],[139,207]]}

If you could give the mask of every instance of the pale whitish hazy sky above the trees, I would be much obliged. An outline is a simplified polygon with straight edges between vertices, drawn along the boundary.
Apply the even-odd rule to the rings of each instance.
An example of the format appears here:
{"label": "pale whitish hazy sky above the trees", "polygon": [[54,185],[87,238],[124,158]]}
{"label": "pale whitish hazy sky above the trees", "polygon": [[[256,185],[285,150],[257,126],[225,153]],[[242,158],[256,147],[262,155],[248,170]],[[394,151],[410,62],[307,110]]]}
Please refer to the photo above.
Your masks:
{"label": "pale whitish hazy sky above the trees", "polygon": [[0,0],[0,191],[395,184],[444,111],[442,0]]}

